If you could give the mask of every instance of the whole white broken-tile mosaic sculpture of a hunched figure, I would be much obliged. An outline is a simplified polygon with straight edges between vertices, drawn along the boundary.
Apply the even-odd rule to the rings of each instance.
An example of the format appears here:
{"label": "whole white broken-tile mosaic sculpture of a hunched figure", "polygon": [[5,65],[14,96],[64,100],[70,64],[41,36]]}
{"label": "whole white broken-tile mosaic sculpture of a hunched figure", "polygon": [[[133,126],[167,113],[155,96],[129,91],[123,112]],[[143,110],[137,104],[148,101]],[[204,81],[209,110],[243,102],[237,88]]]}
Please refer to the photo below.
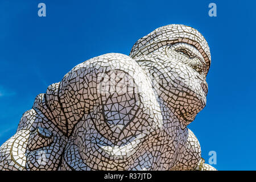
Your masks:
{"label": "whole white broken-tile mosaic sculpture of a hunched figure", "polygon": [[84,61],[35,98],[0,147],[1,170],[216,170],[187,128],[206,104],[208,43],[181,24],[130,55]]}

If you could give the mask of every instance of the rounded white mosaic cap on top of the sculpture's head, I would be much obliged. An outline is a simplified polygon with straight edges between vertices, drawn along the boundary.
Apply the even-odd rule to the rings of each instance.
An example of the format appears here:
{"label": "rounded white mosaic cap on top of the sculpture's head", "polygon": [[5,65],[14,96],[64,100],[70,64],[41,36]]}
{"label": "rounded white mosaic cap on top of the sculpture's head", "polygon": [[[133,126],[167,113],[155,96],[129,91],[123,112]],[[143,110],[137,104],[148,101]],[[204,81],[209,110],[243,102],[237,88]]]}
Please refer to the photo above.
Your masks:
{"label": "rounded white mosaic cap on top of the sculpture's head", "polygon": [[203,55],[207,63],[207,69],[210,67],[210,49],[204,36],[196,29],[184,26],[183,24],[169,24],[167,26],[156,28],[150,34],[143,36],[133,46],[130,56],[135,57],[147,55],[159,47],[167,44],[184,42],[195,46]]}

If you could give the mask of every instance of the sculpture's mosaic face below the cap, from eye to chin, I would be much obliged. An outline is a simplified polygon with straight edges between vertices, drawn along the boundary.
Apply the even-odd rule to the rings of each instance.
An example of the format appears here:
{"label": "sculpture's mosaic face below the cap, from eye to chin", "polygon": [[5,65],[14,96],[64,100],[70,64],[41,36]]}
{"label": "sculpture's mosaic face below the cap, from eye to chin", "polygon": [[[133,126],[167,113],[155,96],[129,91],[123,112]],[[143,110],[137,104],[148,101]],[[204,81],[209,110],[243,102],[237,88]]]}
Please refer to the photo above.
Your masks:
{"label": "sculpture's mosaic face below the cap, from eye to chin", "polygon": [[164,75],[159,78],[160,96],[162,93],[167,95],[165,98],[172,99],[172,110],[187,126],[205,107],[207,101],[207,68],[203,56],[187,43],[164,46],[152,52],[152,55],[157,55],[156,68]]}

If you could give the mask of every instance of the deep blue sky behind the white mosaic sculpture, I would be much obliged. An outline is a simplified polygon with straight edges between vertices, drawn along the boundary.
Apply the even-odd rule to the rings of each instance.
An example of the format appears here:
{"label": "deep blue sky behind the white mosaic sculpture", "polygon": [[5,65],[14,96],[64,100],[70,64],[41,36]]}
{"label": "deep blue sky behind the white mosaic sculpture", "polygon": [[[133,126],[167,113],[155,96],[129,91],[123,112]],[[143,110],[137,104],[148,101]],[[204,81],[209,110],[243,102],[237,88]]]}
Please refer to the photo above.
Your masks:
{"label": "deep blue sky behind the white mosaic sculpture", "polygon": [[[38,16],[38,3],[46,17]],[[217,17],[208,5],[217,5]],[[189,125],[219,170],[256,170],[256,1],[0,2],[0,144],[47,86],[75,65],[109,52],[129,55],[155,28],[186,24],[205,36],[212,54],[207,106]]]}

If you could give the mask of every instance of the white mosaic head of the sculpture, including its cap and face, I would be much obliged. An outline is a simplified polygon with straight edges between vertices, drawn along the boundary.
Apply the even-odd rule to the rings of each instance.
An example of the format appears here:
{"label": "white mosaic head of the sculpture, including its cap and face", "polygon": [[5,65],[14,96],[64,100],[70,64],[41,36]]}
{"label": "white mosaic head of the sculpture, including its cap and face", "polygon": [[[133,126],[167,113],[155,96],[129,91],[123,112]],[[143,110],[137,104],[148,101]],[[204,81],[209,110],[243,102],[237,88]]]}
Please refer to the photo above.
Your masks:
{"label": "white mosaic head of the sculpture, including its cap and face", "polygon": [[134,44],[130,56],[147,72],[156,73],[159,96],[183,127],[205,107],[210,50],[199,31],[181,24],[157,28]]}

